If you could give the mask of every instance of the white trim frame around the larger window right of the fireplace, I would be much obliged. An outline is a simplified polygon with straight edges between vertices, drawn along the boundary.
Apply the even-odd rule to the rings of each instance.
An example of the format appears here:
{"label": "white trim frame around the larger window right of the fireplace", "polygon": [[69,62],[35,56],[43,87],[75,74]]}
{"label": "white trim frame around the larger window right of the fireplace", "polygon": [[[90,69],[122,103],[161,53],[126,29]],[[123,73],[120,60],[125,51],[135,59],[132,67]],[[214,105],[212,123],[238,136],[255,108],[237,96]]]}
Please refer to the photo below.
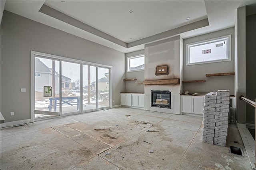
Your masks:
{"label": "white trim frame around the larger window right of the fireplace", "polygon": [[[199,45],[201,43],[212,43],[212,42],[218,42],[220,40],[226,39],[227,38],[227,59],[218,59],[218,60],[212,60],[212,61],[202,61],[202,62],[196,62],[196,63],[188,63],[189,61],[189,47],[190,46],[196,46]],[[200,42],[194,42],[194,43],[189,43],[186,44],[186,65],[197,65],[197,64],[206,64],[206,63],[216,63],[216,62],[222,62],[222,61],[231,61],[231,35],[227,35],[227,36],[222,36],[222,37],[218,37],[218,38],[212,38],[209,40],[203,40]]]}

